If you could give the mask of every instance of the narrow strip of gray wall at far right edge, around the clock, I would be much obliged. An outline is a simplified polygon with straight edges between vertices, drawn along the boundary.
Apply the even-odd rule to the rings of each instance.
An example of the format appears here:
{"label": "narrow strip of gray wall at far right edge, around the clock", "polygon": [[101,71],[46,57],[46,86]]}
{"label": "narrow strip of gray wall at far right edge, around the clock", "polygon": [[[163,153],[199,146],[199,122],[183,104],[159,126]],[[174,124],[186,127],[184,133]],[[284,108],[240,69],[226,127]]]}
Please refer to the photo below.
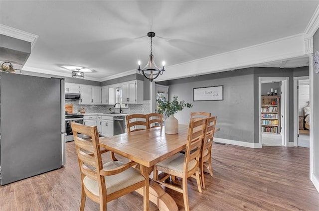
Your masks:
{"label": "narrow strip of gray wall at far right edge, around the clock", "polygon": [[[314,52],[319,51],[319,30],[314,35]],[[313,117],[314,117],[314,174],[319,179],[319,74],[314,73],[314,107],[313,107]]]}

